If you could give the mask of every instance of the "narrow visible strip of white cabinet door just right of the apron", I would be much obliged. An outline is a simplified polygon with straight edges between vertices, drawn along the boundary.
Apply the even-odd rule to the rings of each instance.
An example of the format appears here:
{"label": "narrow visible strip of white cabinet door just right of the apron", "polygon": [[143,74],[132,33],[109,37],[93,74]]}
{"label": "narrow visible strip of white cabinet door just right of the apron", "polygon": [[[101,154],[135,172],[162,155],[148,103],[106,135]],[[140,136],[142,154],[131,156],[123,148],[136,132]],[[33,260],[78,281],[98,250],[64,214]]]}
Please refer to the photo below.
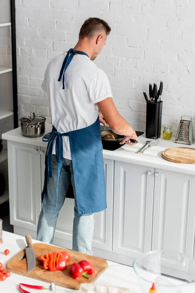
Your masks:
{"label": "narrow visible strip of white cabinet door just right of the apron", "polygon": [[114,161],[104,159],[107,209],[95,213],[93,247],[112,251]]}

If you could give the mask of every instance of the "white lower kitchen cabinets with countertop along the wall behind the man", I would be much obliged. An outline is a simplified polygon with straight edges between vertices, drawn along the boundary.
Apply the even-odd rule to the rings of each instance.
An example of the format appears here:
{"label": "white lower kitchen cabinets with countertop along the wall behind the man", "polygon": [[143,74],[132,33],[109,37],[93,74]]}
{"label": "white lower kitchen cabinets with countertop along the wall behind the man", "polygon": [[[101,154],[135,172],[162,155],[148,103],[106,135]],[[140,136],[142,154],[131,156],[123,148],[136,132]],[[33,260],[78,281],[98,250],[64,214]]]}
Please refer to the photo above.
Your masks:
{"label": "white lower kitchen cabinets with countertop along the wall behind the man", "polygon": [[[51,131],[46,124],[46,132]],[[2,135],[8,141],[10,218],[14,232],[36,239],[46,143],[22,136],[20,127]],[[132,265],[151,250],[174,250],[194,256],[195,164],[165,161],[161,151],[185,146],[159,139],[157,146],[136,154],[136,146],[103,151],[108,209],[96,214],[94,255]],[[189,146],[189,147],[194,147]],[[72,248],[74,200],[59,213],[55,245]]]}

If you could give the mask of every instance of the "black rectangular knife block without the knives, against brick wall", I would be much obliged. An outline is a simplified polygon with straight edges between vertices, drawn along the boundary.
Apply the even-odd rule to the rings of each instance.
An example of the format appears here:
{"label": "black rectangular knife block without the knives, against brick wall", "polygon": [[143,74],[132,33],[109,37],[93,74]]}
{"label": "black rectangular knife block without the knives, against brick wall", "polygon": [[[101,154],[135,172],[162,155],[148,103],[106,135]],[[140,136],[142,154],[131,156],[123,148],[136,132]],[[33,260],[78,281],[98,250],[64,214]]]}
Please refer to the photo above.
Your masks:
{"label": "black rectangular knife block without the knives, against brick wall", "polygon": [[162,121],[162,104],[147,103],[146,106],[146,138],[160,137]]}

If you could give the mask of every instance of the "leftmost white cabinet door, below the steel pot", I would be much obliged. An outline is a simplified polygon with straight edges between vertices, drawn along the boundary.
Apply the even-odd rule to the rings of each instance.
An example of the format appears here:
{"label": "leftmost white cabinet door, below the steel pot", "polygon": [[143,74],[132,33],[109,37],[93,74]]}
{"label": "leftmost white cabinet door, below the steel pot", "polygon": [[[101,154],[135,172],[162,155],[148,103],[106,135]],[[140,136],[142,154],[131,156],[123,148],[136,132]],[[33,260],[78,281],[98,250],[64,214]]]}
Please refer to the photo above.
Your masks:
{"label": "leftmost white cabinet door, below the steel pot", "polygon": [[40,212],[38,146],[8,142],[11,224],[36,230]]}

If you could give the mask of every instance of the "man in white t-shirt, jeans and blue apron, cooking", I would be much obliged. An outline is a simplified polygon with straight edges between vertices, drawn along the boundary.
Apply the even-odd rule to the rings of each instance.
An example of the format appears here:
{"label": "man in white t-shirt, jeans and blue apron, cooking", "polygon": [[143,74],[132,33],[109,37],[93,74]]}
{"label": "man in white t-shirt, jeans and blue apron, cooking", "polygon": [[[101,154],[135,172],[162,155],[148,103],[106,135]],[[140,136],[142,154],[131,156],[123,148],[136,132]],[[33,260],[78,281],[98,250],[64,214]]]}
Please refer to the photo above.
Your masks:
{"label": "man in white t-shirt, jeans and blue apron, cooking", "polygon": [[86,20],[74,49],[51,60],[42,84],[50,99],[53,131],[43,138],[48,148],[38,240],[53,243],[58,214],[72,183],[73,250],[88,254],[92,254],[94,212],[107,208],[99,119],[124,135],[121,144],[137,140],[114,105],[106,74],[92,62],[110,31],[103,20]]}

